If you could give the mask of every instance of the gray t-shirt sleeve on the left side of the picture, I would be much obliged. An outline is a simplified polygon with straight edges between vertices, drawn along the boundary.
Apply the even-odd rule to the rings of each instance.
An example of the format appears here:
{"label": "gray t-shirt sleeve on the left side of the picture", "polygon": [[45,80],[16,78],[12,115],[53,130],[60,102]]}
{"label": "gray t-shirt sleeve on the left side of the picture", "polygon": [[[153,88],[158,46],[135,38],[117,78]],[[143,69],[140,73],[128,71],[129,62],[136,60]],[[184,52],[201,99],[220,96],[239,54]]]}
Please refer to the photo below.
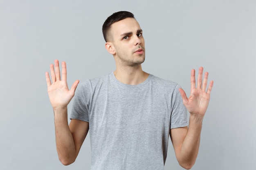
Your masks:
{"label": "gray t-shirt sleeve on the left side of the picture", "polygon": [[70,119],[89,122],[89,106],[91,97],[91,83],[87,80],[78,86],[74,96]]}

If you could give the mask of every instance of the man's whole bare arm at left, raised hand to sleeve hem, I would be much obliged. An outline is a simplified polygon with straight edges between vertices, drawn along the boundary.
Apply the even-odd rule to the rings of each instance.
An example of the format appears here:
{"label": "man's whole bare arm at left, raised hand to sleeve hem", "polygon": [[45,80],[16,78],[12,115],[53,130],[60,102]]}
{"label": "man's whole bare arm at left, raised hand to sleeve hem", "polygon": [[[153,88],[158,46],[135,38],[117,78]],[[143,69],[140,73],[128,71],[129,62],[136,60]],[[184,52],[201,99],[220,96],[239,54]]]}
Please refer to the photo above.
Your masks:
{"label": "man's whole bare arm at left, raised hand to sleeve hem", "polygon": [[58,60],[50,65],[52,82],[49,73],[45,73],[47,90],[54,110],[54,124],[56,148],[58,157],[63,165],[73,163],[79,153],[83,141],[88,133],[89,124],[85,121],[72,119],[70,126],[67,121],[67,105],[70,103],[79,80],[76,80],[69,90],[67,87],[66,63],[62,62],[62,80]]}

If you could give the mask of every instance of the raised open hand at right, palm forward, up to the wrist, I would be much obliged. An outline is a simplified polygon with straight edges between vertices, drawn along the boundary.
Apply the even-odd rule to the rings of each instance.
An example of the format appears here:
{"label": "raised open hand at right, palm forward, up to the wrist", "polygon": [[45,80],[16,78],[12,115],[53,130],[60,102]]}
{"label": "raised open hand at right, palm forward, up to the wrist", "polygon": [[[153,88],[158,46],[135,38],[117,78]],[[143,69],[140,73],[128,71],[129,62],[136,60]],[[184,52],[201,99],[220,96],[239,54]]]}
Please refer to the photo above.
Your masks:
{"label": "raised open hand at right, palm forward, up to the wrist", "polygon": [[[191,115],[204,116],[209,101],[210,93],[213,87],[213,81],[210,82],[209,87],[207,88],[208,72],[204,73],[203,68],[199,68],[197,86],[195,85],[195,70],[191,71],[191,91],[189,98],[186,97],[186,93],[182,88],[179,89],[182,96],[183,104],[186,106],[187,110]],[[206,91],[207,88],[207,91]]]}

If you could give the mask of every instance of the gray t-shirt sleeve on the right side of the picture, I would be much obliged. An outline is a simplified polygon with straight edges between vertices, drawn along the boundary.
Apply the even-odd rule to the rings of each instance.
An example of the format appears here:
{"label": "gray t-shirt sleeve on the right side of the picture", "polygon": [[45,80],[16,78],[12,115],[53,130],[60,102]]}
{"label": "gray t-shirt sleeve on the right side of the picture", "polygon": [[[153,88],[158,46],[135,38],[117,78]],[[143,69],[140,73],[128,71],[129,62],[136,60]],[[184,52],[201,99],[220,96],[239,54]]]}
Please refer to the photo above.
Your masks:
{"label": "gray t-shirt sleeve on the right side of the picture", "polygon": [[183,104],[182,97],[180,95],[179,88],[181,86],[177,84],[173,91],[171,102],[171,129],[181,128],[189,125],[188,113],[186,107]]}

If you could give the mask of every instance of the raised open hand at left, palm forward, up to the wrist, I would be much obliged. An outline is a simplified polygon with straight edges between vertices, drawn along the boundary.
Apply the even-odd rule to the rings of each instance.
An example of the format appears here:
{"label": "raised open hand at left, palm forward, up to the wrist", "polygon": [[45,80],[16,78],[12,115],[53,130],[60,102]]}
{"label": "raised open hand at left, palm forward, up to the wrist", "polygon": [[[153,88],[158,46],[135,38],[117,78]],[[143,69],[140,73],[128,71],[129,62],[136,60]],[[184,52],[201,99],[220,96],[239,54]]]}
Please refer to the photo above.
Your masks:
{"label": "raised open hand at left, palm forward, up to the wrist", "polygon": [[67,87],[66,63],[62,62],[62,80],[58,60],[54,61],[54,65],[50,65],[52,82],[49,77],[49,73],[45,73],[48,95],[53,108],[64,108],[67,107],[72,97],[74,97],[79,80],[76,80],[73,83],[71,89],[69,90],[69,88]]}

